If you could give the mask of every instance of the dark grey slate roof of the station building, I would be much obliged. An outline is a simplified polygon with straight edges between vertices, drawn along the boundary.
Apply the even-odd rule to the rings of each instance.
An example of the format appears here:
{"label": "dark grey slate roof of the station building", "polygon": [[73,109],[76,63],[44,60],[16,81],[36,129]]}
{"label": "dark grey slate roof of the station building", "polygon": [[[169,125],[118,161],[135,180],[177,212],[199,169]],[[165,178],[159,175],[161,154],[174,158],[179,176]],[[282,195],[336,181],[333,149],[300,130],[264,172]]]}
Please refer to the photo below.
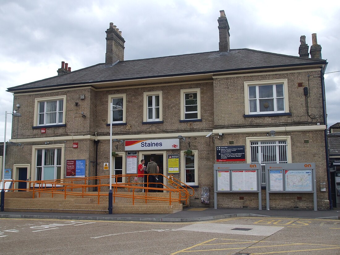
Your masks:
{"label": "dark grey slate roof of the station building", "polygon": [[220,55],[218,51],[212,51],[120,61],[113,66],[97,64],[64,75],[11,87],[8,88],[8,91],[43,89],[51,86],[65,86],[67,84],[75,85],[278,66],[320,64],[326,64],[326,61],[251,49],[231,49],[228,54],[224,55]]}

